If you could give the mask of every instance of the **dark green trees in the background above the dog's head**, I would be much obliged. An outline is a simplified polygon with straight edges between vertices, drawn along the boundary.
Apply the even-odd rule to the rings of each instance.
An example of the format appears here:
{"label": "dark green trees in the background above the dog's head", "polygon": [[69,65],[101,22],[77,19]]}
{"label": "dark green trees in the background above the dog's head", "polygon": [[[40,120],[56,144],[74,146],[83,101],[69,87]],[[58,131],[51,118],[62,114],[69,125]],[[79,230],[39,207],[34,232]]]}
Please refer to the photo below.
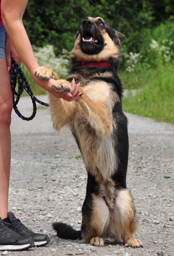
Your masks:
{"label": "dark green trees in the background above the dog's head", "polygon": [[101,16],[127,36],[128,51],[136,52],[144,39],[139,38],[139,31],[172,20],[173,10],[172,0],[29,0],[24,24],[32,45],[51,44],[56,54],[61,54],[63,49],[72,49],[84,17]]}

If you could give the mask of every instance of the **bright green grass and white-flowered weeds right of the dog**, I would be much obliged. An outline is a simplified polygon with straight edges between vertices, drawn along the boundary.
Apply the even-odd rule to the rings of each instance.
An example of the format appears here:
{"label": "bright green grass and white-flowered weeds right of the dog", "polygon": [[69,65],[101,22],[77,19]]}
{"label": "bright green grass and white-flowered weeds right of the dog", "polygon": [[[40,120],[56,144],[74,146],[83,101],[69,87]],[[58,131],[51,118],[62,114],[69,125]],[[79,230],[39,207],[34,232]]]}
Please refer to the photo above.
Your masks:
{"label": "bright green grass and white-flowered weeds right of the dog", "polygon": [[[146,31],[146,33],[145,33]],[[140,89],[123,100],[123,109],[174,124],[174,22],[164,22],[146,35],[139,52],[123,48],[120,75],[125,88]]]}

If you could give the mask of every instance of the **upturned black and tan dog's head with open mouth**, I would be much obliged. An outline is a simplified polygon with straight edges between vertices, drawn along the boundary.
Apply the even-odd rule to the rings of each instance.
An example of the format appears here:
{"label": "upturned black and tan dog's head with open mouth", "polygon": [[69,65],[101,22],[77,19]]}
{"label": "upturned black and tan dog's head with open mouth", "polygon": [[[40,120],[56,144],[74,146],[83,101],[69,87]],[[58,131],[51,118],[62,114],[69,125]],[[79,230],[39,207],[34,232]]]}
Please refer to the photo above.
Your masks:
{"label": "upturned black and tan dog's head with open mouth", "polygon": [[124,40],[125,36],[101,17],[86,17],[77,33],[72,56],[79,60],[106,60],[119,55],[118,45]]}

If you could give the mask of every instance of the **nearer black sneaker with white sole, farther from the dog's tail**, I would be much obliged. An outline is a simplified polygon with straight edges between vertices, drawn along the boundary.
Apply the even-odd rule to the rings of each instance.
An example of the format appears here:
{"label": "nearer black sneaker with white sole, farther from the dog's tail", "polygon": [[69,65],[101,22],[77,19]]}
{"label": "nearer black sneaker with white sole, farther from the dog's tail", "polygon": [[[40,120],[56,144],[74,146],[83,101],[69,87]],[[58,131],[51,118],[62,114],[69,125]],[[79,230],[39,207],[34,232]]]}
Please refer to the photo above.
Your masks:
{"label": "nearer black sneaker with white sole, farther from the dog's tail", "polygon": [[20,236],[0,218],[0,251],[26,250],[35,246],[33,238]]}

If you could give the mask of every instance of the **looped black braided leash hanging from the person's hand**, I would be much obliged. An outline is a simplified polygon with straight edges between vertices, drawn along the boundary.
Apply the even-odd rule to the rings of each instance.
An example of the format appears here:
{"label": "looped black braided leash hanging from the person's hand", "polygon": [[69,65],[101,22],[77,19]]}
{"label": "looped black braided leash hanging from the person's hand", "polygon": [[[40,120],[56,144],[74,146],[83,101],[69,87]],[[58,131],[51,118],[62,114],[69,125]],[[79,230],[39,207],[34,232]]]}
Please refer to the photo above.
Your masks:
{"label": "looped black braided leash hanging from the person's hand", "polygon": [[[10,83],[12,87],[12,93],[13,93],[13,109],[15,110],[15,113],[22,118],[22,120],[32,120],[36,115],[36,102],[39,104],[49,107],[49,104],[42,102],[41,100],[38,100],[34,95],[33,92],[29,86],[29,83],[24,76],[24,73],[22,72],[22,68],[17,63],[17,61],[12,59],[12,68],[10,70]],[[17,87],[17,89],[16,89]],[[17,108],[17,104],[19,102],[20,96],[22,93],[26,90],[28,95],[31,97],[31,101],[33,103],[33,114],[29,117],[23,116],[19,109]]]}

